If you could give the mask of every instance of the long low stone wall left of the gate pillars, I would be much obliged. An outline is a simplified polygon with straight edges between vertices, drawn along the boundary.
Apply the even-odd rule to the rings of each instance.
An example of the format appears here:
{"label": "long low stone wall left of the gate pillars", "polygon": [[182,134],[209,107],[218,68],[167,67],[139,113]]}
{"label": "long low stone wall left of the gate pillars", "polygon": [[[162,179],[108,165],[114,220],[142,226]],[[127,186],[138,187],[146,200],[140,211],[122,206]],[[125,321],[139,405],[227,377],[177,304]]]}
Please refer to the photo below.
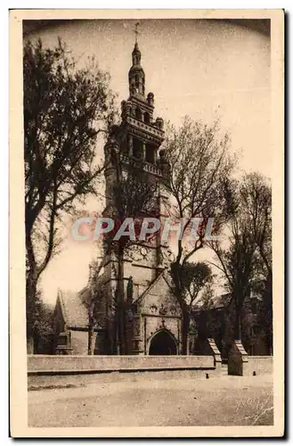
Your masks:
{"label": "long low stone wall left of the gate pillars", "polygon": [[28,355],[28,376],[216,369],[213,356]]}

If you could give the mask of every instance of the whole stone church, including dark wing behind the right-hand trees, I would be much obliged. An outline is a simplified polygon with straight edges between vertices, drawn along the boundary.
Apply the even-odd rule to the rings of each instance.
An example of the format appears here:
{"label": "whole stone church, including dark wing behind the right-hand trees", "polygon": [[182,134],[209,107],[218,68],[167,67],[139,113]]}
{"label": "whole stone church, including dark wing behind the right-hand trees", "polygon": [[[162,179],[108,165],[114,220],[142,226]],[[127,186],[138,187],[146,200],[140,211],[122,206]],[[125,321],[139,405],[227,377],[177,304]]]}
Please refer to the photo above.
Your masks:
{"label": "whole stone church, including dark wing behind the right-hand trees", "polygon": [[[130,161],[139,161],[143,174],[157,187],[156,217],[167,217],[168,197],[163,187],[168,174],[164,141],[164,121],[154,118],[154,94],[145,93],[145,73],[137,40],[128,72],[129,97],[121,103],[121,122],[113,126],[104,146],[104,215],[113,207],[112,186],[118,167],[123,175]],[[115,155],[115,156],[113,156]],[[116,158],[115,158],[116,157]],[[115,212],[114,212],[115,214]],[[132,216],[129,216],[132,217]],[[90,267],[88,284],[79,293],[59,290],[53,314],[53,353],[71,355],[180,355],[182,354],[182,311],[172,291],[168,274],[170,247],[158,233],[151,241],[127,247],[118,261],[115,246],[104,249],[103,268],[94,274]],[[118,264],[122,276],[118,280]],[[121,266],[122,264],[122,266]],[[119,292],[118,292],[119,284]],[[121,292],[121,284],[123,285]],[[121,349],[117,295],[123,301]],[[226,315],[222,296],[216,296],[210,310],[194,310],[189,331],[189,354],[201,354],[199,338],[214,338],[224,357],[233,341],[232,322]],[[262,301],[262,298],[259,298]],[[265,330],[256,324],[260,310],[253,310],[255,296],[248,296],[247,333],[243,343],[250,354],[271,354]],[[93,306],[94,303],[94,306]],[[207,320],[210,320],[207,326]],[[121,323],[120,323],[121,326]],[[203,327],[203,328],[202,328]],[[257,329],[256,329],[257,328]],[[121,329],[121,327],[120,327]],[[202,331],[202,335],[200,332]]]}

